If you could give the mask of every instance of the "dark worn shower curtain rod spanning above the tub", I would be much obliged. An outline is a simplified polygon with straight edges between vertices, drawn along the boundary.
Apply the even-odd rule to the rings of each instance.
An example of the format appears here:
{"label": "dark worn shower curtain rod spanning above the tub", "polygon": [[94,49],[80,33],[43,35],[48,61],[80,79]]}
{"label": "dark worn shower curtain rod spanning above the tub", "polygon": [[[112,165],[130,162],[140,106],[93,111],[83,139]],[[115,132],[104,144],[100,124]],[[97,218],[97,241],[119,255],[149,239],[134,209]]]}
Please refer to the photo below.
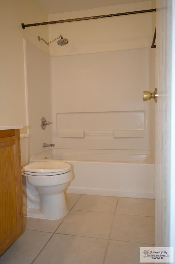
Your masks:
{"label": "dark worn shower curtain rod spanning above the tub", "polygon": [[65,23],[65,22],[74,22],[74,21],[90,20],[90,19],[97,19],[97,18],[114,17],[114,16],[120,16],[120,15],[133,15],[133,14],[141,14],[141,13],[149,13],[149,12],[156,12],[156,8],[140,10],[140,11],[131,11],[131,12],[125,12],[125,13],[116,13],[116,14],[110,14],[110,15],[95,15],[95,16],[88,16],[88,17],[81,17],[81,18],[71,18],[71,19],[64,19],[64,20],[57,20],[57,21],[48,21],[48,22],[33,23],[33,24],[26,24],[26,25],[22,23],[21,26],[23,29],[25,29],[26,27],[43,26],[43,25],[59,24],[59,23]]}

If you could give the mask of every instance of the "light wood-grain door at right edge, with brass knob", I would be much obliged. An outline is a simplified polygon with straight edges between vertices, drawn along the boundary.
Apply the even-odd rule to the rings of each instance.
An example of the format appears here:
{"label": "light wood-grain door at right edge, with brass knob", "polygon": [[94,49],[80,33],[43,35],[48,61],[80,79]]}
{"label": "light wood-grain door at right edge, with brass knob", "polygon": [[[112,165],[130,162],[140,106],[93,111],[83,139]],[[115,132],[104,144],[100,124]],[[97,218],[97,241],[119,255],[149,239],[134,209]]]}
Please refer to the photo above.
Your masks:
{"label": "light wood-grain door at right edge, with brass knob", "polygon": [[175,247],[175,0],[157,0],[156,31],[155,246]]}

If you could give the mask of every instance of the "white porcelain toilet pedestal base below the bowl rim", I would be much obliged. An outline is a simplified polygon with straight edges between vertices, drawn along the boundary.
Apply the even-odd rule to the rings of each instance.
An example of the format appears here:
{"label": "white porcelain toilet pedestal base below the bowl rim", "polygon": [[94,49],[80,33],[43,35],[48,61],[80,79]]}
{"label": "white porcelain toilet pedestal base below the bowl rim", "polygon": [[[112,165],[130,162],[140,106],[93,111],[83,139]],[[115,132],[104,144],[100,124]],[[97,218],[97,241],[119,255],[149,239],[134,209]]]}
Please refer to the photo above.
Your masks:
{"label": "white porcelain toilet pedestal base below the bowl rim", "polygon": [[[67,182],[53,186],[34,186],[26,179],[23,186],[24,215],[55,220],[68,213],[64,190]],[[59,193],[58,193],[59,192]]]}

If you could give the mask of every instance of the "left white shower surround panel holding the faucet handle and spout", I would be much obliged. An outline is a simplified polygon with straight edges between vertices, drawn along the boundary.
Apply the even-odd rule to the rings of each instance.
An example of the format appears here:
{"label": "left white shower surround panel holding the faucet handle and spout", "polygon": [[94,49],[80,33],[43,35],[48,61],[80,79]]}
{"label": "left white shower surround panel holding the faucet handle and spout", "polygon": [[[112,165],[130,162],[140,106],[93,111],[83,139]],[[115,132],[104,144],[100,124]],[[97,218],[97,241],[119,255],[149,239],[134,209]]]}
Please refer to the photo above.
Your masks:
{"label": "left white shower surround panel holding the faucet handle and spout", "polygon": [[[29,111],[30,155],[44,150],[51,142],[52,125],[41,128],[41,118],[51,121],[50,56],[26,41],[27,94]],[[48,149],[48,148],[47,148]]]}

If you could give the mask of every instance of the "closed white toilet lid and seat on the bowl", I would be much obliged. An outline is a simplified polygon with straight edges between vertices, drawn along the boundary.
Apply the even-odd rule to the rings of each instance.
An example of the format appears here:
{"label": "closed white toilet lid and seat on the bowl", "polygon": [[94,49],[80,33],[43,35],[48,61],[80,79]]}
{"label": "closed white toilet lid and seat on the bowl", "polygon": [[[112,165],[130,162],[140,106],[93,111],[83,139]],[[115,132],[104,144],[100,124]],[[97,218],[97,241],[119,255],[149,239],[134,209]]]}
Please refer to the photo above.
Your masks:
{"label": "closed white toilet lid and seat on the bowl", "polygon": [[33,162],[23,167],[22,172],[29,175],[56,175],[71,170],[71,165],[62,161]]}

